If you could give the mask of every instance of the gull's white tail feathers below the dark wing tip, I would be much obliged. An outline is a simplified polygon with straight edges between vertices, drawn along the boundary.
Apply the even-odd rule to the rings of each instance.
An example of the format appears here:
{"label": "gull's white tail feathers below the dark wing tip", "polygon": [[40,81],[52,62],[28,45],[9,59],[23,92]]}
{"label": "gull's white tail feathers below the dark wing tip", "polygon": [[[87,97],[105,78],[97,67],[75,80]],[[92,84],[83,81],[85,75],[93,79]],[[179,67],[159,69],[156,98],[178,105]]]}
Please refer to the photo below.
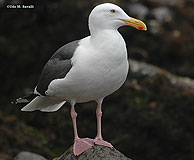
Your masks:
{"label": "gull's white tail feathers below the dark wing tip", "polygon": [[30,103],[28,103],[25,107],[23,107],[22,111],[35,111],[41,110],[42,112],[54,112],[57,111],[65,101],[59,101],[55,98],[50,97],[36,97]]}

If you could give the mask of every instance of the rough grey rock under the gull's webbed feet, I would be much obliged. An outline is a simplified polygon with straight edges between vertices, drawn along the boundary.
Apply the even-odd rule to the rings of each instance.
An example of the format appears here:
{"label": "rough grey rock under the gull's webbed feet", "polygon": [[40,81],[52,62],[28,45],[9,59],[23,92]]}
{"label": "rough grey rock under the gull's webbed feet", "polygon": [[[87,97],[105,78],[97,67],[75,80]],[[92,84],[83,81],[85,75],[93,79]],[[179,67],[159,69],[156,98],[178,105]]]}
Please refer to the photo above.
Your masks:
{"label": "rough grey rock under the gull's webbed feet", "polygon": [[54,160],[131,160],[115,148],[111,149],[104,146],[95,145],[94,148],[82,153],[80,156],[74,156],[72,147]]}

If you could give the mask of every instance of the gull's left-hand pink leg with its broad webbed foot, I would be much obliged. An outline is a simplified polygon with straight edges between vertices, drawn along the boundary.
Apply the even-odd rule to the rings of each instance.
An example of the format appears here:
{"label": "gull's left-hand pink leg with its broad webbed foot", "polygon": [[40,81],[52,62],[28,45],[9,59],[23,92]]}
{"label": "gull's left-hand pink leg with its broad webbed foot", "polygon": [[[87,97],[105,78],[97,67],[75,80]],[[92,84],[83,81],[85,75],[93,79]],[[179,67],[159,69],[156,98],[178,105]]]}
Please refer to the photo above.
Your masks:
{"label": "gull's left-hand pink leg with its broad webbed foot", "polygon": [[94,146],[94,142],[90,138],[79,138],[77,133],[77,123],[76,123],[77,113],[75,112],[74,105],[71,107],[71,118],[73,121],[73,130],[74,130],[74,145],[73,153],[78,156],[87,149],[90,149]]}

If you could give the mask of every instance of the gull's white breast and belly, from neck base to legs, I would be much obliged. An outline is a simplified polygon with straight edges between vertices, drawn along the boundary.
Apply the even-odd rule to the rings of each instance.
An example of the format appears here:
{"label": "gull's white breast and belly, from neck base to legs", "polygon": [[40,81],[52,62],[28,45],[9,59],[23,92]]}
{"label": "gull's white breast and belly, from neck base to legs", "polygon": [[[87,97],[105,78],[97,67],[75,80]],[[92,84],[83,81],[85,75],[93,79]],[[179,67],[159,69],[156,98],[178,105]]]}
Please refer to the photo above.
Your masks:
{"label": "gull's white breast and belly, from neck base to legs", "polygon": [[64,79],[51,82],[48,92],[66,101],[86,102],[119,89],[127,77],[127,51],[118,32],[113,38],[109,34],[113,33],[82,39],[72,58],[72,69]]}

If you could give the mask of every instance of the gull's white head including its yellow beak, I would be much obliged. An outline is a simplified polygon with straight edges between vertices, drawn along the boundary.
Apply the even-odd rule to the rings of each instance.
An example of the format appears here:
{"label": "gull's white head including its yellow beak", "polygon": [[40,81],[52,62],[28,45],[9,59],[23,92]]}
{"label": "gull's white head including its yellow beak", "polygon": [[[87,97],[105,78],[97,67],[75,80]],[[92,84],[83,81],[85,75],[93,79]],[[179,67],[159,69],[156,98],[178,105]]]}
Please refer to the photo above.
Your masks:
{"label": "gull's white head including its yellow beak", "polygon": [[118,29],[129,25],[138,30],[147,30],[146,25],[135,18],[129,17],[119,6],[103,3],[96,6],[89,15],[89,29]]}

